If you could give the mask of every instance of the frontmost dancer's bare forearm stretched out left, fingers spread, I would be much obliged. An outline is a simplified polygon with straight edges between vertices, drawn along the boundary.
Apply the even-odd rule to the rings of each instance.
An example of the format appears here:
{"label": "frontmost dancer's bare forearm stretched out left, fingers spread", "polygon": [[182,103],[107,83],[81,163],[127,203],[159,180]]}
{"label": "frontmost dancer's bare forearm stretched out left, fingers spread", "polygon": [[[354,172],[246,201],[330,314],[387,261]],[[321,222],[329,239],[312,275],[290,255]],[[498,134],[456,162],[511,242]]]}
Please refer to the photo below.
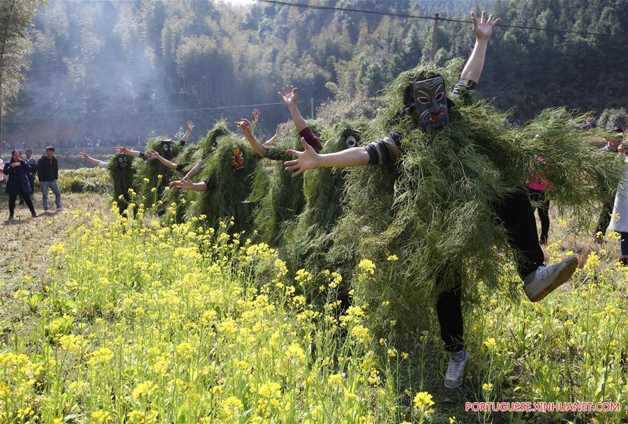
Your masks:
{"label": "frontmost dancer's bare forearm stretched out left, fingers spread", "polygon": [[364,147],[352,147],[336,153],[316,153],[312,146],[301,137],[301,146],[304,151],[288,150],[287,153],[297,156],[297,159],[284,162],[286,171],[295,171],[297,176],[313,168],[349,168],[368,165],[368,152]]}

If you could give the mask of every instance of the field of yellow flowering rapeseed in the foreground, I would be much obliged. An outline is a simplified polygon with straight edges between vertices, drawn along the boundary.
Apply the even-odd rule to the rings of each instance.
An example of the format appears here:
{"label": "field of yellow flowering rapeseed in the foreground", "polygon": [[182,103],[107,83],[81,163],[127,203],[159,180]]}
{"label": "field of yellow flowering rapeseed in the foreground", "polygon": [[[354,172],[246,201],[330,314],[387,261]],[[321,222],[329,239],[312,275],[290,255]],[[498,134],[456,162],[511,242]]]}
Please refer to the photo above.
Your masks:
{"label": "field of yellow flowering rapeseed in the foreground", "polygon": [[[466,311],[464,384],[447,390],[438,324],[410,342],[373,340],[368,305],[336,313],[341,275],[327,273],[326,301],[311,305],[312,275],[289,275],[246,234],[78,209],[54,220],[66,233],[46,271],[5,276],[2,423],[626,422],[628,268],[614,264],[616,241],[544,301],[484,294]],[[568,254],[548,246],[552,262]],[[361,265],[359,278],[378,271]],[[622,409],[464,411],[600,400]]]}

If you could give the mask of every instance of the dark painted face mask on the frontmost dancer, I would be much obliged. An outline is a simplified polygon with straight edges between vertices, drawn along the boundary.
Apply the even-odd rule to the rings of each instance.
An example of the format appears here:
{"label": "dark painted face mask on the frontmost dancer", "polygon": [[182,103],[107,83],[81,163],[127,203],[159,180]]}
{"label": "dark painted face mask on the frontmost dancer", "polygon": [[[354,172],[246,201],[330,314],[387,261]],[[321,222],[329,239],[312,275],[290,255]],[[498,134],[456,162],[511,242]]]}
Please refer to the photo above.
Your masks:
{"label": "dark painted face mask on the frontmost dancer", "polygon": [[423,79],[412,84],[414,115],[421,128],[442,128],[449,123],[447,94],[443,77]]}

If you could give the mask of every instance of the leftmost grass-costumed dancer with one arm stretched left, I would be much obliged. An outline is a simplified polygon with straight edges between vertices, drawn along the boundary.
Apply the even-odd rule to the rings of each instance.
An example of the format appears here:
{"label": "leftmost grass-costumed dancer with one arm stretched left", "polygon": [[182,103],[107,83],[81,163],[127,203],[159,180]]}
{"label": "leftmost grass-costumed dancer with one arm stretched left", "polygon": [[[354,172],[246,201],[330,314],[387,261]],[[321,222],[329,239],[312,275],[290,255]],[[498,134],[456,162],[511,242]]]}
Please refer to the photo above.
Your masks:
{"label": "leftmost grass-costumed dancer with one arm stretched left", "polygon": [[134,190],[135,168],[133,168],[133,156],[126,153],[117,153],[109,162],[92,158],[87,151],[81,151],[81,158],[97,167],[109,171],[112,181],[112,199],[118,206],[120,215],[128,213],[128,204],[131,202],[131,191]]}

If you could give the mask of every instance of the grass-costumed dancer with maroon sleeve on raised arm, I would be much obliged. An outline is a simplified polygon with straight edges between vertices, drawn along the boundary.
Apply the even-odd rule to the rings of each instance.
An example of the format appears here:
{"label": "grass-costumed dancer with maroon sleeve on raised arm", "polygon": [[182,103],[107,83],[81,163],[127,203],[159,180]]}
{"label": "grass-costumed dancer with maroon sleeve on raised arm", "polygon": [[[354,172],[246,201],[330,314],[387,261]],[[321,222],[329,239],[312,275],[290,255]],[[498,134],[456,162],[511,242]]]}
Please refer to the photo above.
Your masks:
{"label": "grass-costumed dancer with maroon sleeve on raised arm", "polygon": [[305,205],[303,181],[291,179],[283,172],[283,162],[290,158],[286,151],[297,148],[300,137],[304,137],[315,151],[321,151],[322,142],[316,134],[320,134],[324,128],[321,123],[306,121],[301,116],[296,87],[284,86],[279,96],[292,117],[292,124],[285,126],[286,131],[278,126],[274,137],[261,143],[253,135],[247,119],[236,122],[257,156],[277,162],[269,185],[265,190],[254,190],[251,197],[251,202],[257,204],[254,212],[255,229],[260,239],[276,247],[285,245],[285,225],[294,220]]}

